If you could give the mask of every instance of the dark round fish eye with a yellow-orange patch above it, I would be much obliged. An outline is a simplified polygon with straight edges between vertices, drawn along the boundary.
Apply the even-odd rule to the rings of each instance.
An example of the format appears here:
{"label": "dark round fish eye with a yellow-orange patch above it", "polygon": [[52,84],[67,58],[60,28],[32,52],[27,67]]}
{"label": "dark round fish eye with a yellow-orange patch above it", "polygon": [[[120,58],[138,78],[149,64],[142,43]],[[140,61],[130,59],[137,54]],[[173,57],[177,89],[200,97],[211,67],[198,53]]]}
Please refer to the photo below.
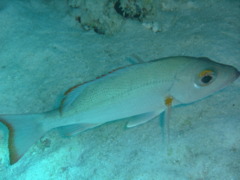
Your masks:
{"label": "dark round fish eye with a yellow-orange patch above it", "polygon": [[207,86],[211,84],[216,77],[216,73],[213,70],[203,70],[197,76],[195,84],[197,86]]}

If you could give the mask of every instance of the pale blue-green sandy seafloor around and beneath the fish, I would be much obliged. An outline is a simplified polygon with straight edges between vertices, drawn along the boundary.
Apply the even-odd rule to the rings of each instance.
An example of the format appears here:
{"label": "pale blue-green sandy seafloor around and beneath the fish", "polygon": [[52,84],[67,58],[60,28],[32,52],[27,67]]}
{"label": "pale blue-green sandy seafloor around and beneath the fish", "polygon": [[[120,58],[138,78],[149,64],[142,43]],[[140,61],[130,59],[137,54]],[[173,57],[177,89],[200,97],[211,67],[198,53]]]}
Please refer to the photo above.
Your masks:
{"label": "pale blue-green sandy seafloor around and beneath the fish", "polygon": [[[1,0],[0,114],[51,110],[69,87],[130,64],[135,55],[144,61],[206,56],[240,69],[240,1],[159,4],[146,22],[113,16],[120,25],[101,34],[81,26],[72,13],[77,8],[66,1]],[[90,13],[98,16],[96,7],[92,3]],[[0,179],[238,180],[239,92],[238,79],[220,93],[174,108],[167,151],[158,118],[131,129],[123,120],[70,138],[50,131],[9,166],[0,131]]]}

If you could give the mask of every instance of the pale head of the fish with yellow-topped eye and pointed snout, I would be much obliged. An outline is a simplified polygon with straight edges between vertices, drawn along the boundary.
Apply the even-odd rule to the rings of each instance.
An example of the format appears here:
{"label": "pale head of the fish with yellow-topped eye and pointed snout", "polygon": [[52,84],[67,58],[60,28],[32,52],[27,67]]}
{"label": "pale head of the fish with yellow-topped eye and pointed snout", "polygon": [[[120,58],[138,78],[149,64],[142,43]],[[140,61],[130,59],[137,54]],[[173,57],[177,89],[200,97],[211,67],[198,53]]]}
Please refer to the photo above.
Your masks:
{"label": "pale head of the fish with yellow-topped eye and pointed snout", "polygon": [[233,66],[208,58],[189,59],[176,74],[170,93],[181,104],[191,103],[225,88],[239,75]]}

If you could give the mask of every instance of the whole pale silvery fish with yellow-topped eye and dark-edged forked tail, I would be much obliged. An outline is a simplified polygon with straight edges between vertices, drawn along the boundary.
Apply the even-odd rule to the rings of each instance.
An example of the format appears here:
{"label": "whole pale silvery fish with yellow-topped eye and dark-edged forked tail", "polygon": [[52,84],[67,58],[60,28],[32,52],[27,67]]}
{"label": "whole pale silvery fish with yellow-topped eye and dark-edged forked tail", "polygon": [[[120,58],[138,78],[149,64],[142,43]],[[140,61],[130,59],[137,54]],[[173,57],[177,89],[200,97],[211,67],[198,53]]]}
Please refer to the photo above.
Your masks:
{"label": "whole pale silvery fish with yellow-topped eye and dark-edged forked tail", "polygon": [[8,129],[9,163],[16,163],[48,131],[73,136],[129,118],[144,124],[171,107],[202,100],[227,87],[240,72],[206,57],[174,56],[130,64],[69,88],[58,108],[36,114],[1,114]]}

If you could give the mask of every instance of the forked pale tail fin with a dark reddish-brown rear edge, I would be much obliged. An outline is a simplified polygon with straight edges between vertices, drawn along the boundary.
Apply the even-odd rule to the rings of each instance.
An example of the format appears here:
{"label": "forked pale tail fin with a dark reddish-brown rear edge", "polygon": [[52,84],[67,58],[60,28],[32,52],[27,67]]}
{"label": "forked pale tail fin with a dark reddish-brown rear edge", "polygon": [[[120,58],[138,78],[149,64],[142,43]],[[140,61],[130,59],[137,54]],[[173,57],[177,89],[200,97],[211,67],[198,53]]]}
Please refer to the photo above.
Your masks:
{"label": "forked pale tail fin with a dark reddish-brown rear edge", "polygon": [[0,115],[0,122],[9,131],[10,164],[16,163],[24,153],[45,133],[40,119],[43,114]]}

